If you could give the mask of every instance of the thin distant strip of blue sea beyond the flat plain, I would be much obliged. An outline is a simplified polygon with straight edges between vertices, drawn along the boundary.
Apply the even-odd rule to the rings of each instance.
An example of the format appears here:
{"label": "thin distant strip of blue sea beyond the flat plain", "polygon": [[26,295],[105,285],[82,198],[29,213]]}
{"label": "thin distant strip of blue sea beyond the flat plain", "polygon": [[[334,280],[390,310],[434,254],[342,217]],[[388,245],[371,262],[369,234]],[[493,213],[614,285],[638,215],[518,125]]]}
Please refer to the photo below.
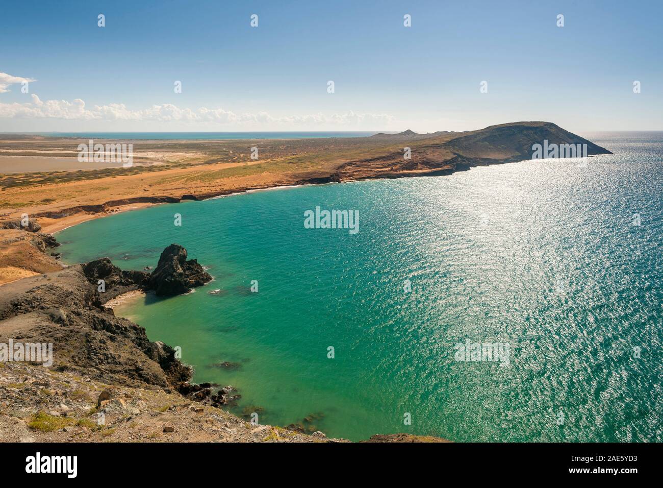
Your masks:
{"label": "thin distant strip of blue sea beyond the flat plain", "polygon": [[367,131],[282,131],[282,132],[40,132],[47,137],[80,137],[82,139],[318,139],[320,137],[367,137]]}

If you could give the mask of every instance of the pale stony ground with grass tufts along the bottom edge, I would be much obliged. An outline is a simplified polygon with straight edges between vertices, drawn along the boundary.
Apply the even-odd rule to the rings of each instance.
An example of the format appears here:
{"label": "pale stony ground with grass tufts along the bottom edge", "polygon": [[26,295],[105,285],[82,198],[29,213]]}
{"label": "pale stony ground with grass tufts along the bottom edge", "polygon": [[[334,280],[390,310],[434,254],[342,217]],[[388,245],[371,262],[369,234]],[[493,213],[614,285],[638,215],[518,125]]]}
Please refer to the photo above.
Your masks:
{"label": "pale stony ground with grass tufts along the bottom edge", "polygon": [[62,364],[0,363],[0,442],[339,441],[252,425],[149,384],[109,384]]}

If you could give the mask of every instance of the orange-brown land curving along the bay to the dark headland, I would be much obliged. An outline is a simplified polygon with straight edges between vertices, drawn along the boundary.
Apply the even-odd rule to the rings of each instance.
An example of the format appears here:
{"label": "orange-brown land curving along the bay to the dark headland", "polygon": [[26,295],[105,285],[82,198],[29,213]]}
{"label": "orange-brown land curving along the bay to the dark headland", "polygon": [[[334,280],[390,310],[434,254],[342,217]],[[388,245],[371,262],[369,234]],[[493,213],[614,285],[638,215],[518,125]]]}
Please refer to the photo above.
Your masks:
{"label": "orange-brown land curving along the bay to the dark headland", "polygon": [[[52,233],[91,218],[135,208],[136,205],[201,201],[278,187],[450,175],[473,167],[531,159],[534,145],[544,140],[553,141],[555,145],[573,145],[574,148],[583,144],[587,156],[612,154],[608,149],[551,122],[510,122],[462,133],[442,131],[424,135],[404,131],[392,135],[378,134],[356,138],[356,144],[352,147],[310,144],[302,149],[299,146],[290,147],[284,142],[281,152],[274,152],[260,162],[241,158],[238,162],[235,157],[228,159],[223,151],[233,153],[233,150],[245,148],[223,146],[215,147],[214,151],[210,149],[208,156],[212,159],[202,164],[147,173],[101,173],[90,179],[89,183],[73,179],[64,183],[56,180],[58,185],[52,185],[50,179],[34,179],[34,183],[25,182],[27,185],[10,185],[9,193],[14,199],[26,198],[27,188],[30,191],[43,189],[44,195],[51,198],[27,204],[17,203],[11,207],[13,211],[3,217],[17,219],[22,212],[27,212],[31,217],[43,220],[40,222],[43,232]],[[407,147],[404,148],[404,145]],[[407,157],[404,149],[412,149]],[[290,163],[293,163],[292,166]],[[227,169],[255,164],[264,166],[248,172],[223,173]],[[118,179],[113,181],[111,178]],[[109,186],[92,186],[95,191],[88,193],[88,185]],[[23,189],[13,191],[14,187]],[[98,203],[99,200],[102,203]]]}

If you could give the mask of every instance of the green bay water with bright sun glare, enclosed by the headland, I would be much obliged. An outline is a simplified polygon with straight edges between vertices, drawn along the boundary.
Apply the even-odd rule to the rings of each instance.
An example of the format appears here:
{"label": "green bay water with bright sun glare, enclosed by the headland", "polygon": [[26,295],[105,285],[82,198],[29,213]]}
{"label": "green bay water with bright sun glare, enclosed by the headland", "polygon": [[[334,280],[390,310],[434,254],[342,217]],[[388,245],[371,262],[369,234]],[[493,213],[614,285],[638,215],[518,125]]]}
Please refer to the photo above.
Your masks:
{"label": "green bay water with bright sun glare, enclosed by the headland", "polygon": [[[661,442],[663,133],[583,135],[615,155],[166,204],[57,237],[66,262],[142,269],[176,242],[209,266],[194,293],[116,313],[261,423]],[[359,210],[359,232],[304,228],[316,206]],[[457,361],[468,340],[509,364]]]}

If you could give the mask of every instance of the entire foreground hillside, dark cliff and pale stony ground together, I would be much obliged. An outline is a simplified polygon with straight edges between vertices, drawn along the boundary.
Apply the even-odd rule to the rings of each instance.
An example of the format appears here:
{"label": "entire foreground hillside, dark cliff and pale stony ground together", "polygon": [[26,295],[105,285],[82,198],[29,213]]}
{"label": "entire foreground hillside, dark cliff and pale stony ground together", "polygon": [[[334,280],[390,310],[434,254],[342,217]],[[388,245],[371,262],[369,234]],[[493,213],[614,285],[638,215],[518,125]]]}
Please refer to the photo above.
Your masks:
{"label": "entire foreground hillside, dark cliff and pale stony ground together", "polygon": [[[167,251],[186,256],[179,246]],[[206,390],[189,383],[191,368],[168,345],[149,341],[143,327],[103,306],[118,290],[145,286],[149,278],[103,259],[0,288],[0,343],[53,345],[48,367],[0,362],[0,440],[326,441],[324,434],[252,425],[183,396]],[[107,295],[97,291],[98,279],[107,280]]]}

